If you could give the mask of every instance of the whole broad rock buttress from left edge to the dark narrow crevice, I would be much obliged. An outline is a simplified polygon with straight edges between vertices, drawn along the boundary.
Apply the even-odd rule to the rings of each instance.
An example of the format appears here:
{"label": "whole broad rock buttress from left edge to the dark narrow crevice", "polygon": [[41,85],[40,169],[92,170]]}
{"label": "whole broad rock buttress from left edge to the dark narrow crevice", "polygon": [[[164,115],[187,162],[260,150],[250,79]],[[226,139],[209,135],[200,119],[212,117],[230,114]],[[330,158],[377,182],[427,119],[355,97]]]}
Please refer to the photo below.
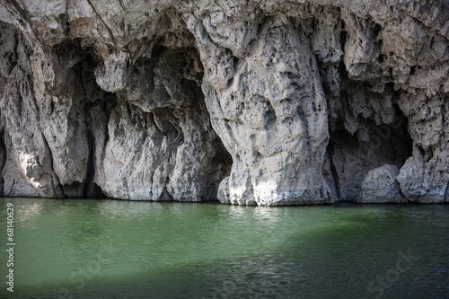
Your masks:
{"label": "whole broad rock buttress from left edge to the dark narrow crevice", "polygon": [[32,46],[26,35],[1,28],[7,43],[3,51],[13,57],[0,74],[4,195],[84,196],[89,158],[80,66],[84,52],[75,41]]}

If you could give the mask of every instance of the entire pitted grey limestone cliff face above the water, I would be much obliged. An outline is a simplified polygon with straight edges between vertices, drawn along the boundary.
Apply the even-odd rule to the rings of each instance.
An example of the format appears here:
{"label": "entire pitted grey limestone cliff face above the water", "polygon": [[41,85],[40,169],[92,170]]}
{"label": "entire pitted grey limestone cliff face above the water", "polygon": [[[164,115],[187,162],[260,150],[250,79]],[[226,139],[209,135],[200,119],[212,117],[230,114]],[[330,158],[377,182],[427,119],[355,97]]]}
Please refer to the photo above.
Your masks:
{"label": "entire pitted grey limestone cliff face above the water", "polygon": [[444,0],[6,0],[0,34],[0,195],[449,201]]}

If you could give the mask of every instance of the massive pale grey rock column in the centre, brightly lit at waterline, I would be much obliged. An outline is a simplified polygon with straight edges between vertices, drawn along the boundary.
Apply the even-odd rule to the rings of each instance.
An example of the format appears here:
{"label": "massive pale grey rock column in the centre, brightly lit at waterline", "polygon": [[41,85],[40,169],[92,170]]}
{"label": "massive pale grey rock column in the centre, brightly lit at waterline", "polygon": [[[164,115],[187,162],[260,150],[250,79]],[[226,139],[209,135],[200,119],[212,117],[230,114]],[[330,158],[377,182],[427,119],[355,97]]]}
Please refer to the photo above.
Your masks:
{"label": "massive pale grey rock column in the centre, brightly lit at waterline", "polygon": [[269,19],[245,56],[211,40],[188,18],[205,76],[212,125],[233,156],[221,202],[295,205],[331,202],[321,176],[328,143],[326,101],[318,66],[301,28]]}

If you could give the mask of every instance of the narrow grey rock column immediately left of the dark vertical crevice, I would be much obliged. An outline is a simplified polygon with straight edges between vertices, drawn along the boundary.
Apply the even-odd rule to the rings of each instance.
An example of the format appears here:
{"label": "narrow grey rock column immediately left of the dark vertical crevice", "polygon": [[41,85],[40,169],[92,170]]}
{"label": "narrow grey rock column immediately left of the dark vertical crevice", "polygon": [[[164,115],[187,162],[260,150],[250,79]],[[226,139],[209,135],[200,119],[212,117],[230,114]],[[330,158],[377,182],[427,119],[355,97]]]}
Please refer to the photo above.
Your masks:
{"label": "narrow grey rock column immediately left of the dark vertical crevice", "polygon": [[83,59],[81,48],[70,42],[57,45],[46,54],[35,50],[31,56],[40,128],[52,168],[68,197],[84,196],[88,171],[89,146],[83,111],[88,91],[82,75],[76,71]]}

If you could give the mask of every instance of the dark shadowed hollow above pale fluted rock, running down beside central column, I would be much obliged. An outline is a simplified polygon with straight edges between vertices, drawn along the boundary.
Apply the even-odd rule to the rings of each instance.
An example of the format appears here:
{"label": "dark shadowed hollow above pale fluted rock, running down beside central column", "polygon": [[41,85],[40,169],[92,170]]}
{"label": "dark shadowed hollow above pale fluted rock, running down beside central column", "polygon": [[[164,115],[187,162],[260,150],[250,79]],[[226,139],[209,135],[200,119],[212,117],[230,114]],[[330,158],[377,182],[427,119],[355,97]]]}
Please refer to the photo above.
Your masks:
{"label": "dark shadowed hollow above pale fluted rock, running down beside central column", "polygon": [[[166,66],[167,72],[154,72],[155,68],[161,67],[161,63]],[[186,128],[183,122],[189,121],[202,128],[202,139],[206,143],[212,142],[215,149],[213,156],[207,156],[208,161],[201,170],[204,175],[202,180],[207,181],[202,200],[216,200],[218,185],[231,172],[233,160],[210,124],[205,95],[201,90],[203,69],[197,48],[155,45],[151,57],[140,57],[129,70],[128,89],[139,88],[139,93],[144,97],[140,100],[151,102],[151,106],[157,108],[151,108],[151,112],[143,112],[132,102],[129,106],[145,115],[141,119],[152,122],[152,126],[160,130],[161,136],[167,136],[175,146],[182,145],[186,135],[190,134],[183,131]],[[163,87],[154,85],[156,75],[163,76],[163,81],[180,80],[173,83],[179,84],[180,91],[169,96]],[[206,153],[202,150],[198,152],[199,155]],[[166,189],[163,190],[161,200],[172,200]]]}

